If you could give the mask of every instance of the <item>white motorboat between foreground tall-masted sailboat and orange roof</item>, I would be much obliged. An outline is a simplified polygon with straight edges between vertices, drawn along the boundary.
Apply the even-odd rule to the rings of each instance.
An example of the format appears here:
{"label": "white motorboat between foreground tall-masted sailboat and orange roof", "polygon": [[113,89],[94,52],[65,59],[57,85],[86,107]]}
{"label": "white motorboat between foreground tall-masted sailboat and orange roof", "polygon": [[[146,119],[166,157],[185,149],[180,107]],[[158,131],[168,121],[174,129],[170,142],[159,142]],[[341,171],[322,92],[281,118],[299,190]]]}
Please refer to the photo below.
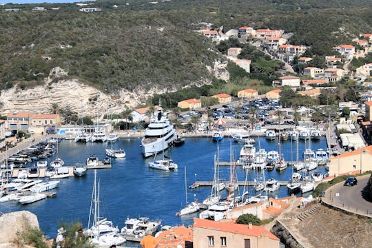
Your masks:
{"label": "white motorboat between foreground tall-masted sailboat and orange roof", "polygon": [[154,236],[161,226],[161,220],[150,220],[148,217],[127,218],[120,235],[128,241],[140,242],[146,235]]}

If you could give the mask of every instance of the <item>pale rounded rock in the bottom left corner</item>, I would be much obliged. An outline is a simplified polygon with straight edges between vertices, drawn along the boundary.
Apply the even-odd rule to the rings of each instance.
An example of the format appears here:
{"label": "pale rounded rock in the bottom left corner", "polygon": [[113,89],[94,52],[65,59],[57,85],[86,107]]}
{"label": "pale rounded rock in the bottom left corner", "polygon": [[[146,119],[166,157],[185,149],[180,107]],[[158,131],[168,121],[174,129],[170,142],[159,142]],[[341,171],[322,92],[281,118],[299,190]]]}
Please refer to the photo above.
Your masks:
{"label": "pale rounded rock in the bottom left corner", "polygon": [[27,227],[39,228],[37,216],[30,211],[16,211],[0,216],[0,247],[12,242],[17,233],[25,231]]}

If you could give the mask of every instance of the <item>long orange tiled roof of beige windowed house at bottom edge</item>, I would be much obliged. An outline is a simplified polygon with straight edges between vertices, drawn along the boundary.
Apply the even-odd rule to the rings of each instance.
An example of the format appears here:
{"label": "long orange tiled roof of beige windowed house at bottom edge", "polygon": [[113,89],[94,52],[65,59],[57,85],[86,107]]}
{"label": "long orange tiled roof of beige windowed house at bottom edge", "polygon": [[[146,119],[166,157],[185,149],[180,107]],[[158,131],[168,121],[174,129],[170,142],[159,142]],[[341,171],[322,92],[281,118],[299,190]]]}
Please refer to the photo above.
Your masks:
{"label": "long orange tiled roof of beige windowed house at bottom edge", "polygon": [[232,234],[243,234],[247,236],[260,237],[262,235],[267,235],[273,240],[279,240],[276,236],[267,231],[267,229],[253,225],[249,229],[248,225],[236,224],[236,223],[223,223],[214,220],[203,220],[200,218],[194,218],[194,227],[213,229],[218,231],[226,231]]}

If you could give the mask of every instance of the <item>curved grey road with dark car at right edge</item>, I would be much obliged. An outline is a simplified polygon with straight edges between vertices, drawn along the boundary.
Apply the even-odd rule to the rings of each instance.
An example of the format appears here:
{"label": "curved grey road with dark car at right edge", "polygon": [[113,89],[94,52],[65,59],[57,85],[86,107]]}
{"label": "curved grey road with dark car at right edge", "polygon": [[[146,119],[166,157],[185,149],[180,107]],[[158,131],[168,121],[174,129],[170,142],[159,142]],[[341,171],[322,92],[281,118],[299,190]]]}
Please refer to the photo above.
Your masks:
{"label": "curved grey road with dark car at right edge", "polygon": [[365,200],[362,196],[370,175],[358,177],[358,184],[355,186],[344,186],[343,183],[335,185],[327,190],[325,198],[327,202],[358,211],[364,214],[372,214],[372,203]]}

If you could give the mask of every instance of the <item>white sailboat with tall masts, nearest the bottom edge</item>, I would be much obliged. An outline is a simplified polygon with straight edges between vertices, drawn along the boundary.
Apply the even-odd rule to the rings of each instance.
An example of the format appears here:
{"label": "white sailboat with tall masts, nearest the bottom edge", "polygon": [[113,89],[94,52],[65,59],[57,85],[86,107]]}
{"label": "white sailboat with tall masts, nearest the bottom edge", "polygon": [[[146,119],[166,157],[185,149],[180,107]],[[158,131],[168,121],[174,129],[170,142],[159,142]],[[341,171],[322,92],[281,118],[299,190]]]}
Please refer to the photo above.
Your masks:
{"label": "white sailboat with tall masts, nearest the bottom edge", "polygon": [[[85,234],[90,237],[90,241],[94,245],[110,246],[121,245],[126,240],[119,235],[118,227],[112,225],[112,221],[106,218],[101,218],[99,209],[99,183],[96,183],[97,172],[94,170],[94,184],[92,191],[92,200],[90,202],[90,214],[88,220],[88,229]],[[98,186],[98,187],[97,187]],[[94,216],[92,217],[92,213]],[[92,220],[92,225],[90,221]]]}

